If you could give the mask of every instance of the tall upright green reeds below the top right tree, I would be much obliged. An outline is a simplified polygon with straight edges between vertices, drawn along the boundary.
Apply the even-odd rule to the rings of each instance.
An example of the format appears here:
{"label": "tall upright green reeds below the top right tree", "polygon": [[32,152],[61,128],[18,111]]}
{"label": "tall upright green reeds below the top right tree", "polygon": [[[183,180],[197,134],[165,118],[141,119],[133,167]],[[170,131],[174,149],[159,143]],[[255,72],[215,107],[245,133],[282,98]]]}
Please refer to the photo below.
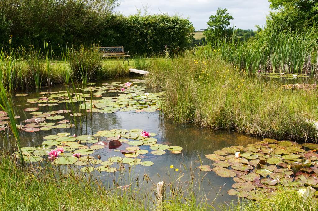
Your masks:
{"label": "tall upright green reeds below the top right tree", "polygon": [[198,49],[198,55],[219,57],[246,72],[318,72],[318,36],[312,31],[268,27],[247,41],[219,39]]}

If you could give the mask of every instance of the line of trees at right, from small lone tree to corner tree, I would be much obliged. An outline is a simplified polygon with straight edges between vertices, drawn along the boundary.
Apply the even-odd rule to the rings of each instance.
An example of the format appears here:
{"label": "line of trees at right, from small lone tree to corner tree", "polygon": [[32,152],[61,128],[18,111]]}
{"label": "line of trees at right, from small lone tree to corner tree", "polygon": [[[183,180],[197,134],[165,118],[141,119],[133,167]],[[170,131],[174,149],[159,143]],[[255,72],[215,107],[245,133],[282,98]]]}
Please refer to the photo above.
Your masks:
{"label": "line of trees at right, from small lone tree to corner tree", "polygon": [[208,28],[203,32],[207,41],[235,39],[245,41],[262,31],[295,31],[298,33],[314,32],[318,37],[318,0],[269,0],[270,14],[263,28],[256,25],[257,31],[235,29],[230,26],[233,17],[226,8],[218,8],[207,22]]}

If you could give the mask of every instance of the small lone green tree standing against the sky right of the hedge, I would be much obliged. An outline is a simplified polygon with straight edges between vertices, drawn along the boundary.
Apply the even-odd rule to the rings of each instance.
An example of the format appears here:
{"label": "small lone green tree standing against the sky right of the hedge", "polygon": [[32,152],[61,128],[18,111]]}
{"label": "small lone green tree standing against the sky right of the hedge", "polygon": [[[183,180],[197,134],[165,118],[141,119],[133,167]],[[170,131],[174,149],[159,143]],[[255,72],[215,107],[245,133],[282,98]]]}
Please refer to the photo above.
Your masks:
{"label": "small lone green tree standing against the sky right of the hedge", "polygon": [[211,15],[210,20],[207,22],[208,28],[203,34],[207,40],[231,37],[234,27],[229,27],[230,20],[233,17],[227,12],[226,8],[218,8],[216,15]]}

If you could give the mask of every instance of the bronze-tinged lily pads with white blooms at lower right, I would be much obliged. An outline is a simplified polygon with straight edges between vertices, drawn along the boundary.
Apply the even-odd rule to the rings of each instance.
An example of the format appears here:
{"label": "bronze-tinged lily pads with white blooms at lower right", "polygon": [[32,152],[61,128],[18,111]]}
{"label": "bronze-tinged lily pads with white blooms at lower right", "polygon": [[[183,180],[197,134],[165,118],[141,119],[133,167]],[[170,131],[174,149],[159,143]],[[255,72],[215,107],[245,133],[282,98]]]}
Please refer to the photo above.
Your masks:
{"label": "bronze-tinged lily pads with white blooms at lower right", "polygon": [[274,196],[278,187],[307,190],[318,196],[318,144],[263,139],[255,144],[225,147],[205,155],[214,161],[199,166],[221,177],[234,177],[230,195],[258,200]]}

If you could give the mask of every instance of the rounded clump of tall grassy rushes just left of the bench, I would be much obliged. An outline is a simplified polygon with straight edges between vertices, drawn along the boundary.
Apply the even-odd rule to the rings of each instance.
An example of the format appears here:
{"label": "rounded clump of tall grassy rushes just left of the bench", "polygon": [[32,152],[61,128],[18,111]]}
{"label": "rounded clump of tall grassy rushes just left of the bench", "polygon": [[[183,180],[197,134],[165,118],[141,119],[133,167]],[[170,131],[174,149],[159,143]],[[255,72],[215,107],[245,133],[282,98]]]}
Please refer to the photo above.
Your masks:
{"label": "rounded clump of tall grassy rushes just left of the bench", "polygon": [[89,83],[102,67],[102,59],[97,49],[80,46],[79,49],[68,49],[68,59],[73,71],[73,77],[83,85]]}

